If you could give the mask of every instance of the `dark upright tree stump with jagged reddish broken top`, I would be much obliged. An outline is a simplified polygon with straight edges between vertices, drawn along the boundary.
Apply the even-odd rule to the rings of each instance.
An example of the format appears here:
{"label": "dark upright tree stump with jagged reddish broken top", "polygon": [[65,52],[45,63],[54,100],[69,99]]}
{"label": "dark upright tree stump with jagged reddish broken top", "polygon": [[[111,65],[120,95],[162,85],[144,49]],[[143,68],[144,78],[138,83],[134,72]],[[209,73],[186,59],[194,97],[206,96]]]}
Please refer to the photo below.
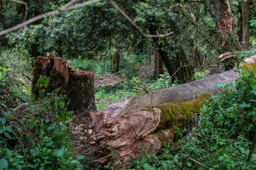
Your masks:
{"label": "dark upright tree stump with jagged reddish broken top", "polygon": [[[74,113],[96,112],[94,97],[94,73],[75,71],[69,63],[58,57],[37,57],[34,67],[32,92],[39,97],[37,81],[40,75],[49,77],[46,93],[62,88],[69,99],[68,109]],[[67,101],[68,102],[68,101]]]}

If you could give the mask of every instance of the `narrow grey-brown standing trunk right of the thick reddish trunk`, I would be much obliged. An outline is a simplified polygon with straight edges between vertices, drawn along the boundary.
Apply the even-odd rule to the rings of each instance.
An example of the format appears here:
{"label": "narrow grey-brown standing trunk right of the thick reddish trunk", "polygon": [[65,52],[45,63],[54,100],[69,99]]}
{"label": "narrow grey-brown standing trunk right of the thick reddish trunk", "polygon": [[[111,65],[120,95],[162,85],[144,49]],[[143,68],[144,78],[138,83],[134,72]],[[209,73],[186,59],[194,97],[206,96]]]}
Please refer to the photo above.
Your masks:
{"label": "narrow grey-brown standing trunk right of the thick reddish trunk", "polygon": [[240,41],[242,42],[242,48],[244,50],[249,48],[249,21],[250,21],[250,5],[248,0],[241,2],[241,8],[242,8],[242,19],[241,19],[241,26],[240,26]]}

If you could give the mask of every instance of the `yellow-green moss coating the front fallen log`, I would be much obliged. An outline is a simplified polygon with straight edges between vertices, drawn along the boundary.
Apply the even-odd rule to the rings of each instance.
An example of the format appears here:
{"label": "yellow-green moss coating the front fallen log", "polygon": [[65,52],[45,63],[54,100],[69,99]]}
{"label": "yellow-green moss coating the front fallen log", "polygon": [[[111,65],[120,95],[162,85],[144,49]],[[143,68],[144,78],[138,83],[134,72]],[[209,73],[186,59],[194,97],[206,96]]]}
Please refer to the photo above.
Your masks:
{"label": "yellow-green moss coating the front fallen log", "polygon": [[[176,127],[183,127],[194,113],[198,112],[200,107],[209,98],[208,94],[197,95],[194,100],[185,102],[164,103],[156,105],[154,108],[161,110],[161,121],[155,131],[171,128],[171,131],[176,130]],[[152,109],[152,107],[146,107]]]}

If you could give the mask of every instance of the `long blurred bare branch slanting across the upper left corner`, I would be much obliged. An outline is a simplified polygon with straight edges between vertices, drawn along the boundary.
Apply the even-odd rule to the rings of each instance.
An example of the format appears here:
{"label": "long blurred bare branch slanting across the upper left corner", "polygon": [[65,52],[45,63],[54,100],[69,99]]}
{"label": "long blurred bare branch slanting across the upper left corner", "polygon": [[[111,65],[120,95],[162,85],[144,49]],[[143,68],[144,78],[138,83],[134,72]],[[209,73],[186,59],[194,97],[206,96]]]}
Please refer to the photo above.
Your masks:
{"label": "long blurred bare branch slanting across the upper left corner", "polygon": [[11,28],[8,28],[8,29],[6,29],[6,30],[1,31],[1,32],[0,32],[0,36],[5,35],[5,34],[8,34],[8,33],[10,33],[10,32],[13,32],[13,31],[15,31],[15,30],[18,30],[19,28],[22,28],[22,27],[24,27],[24,26],[26,26],[26,25],[28,25],[28,24],[31,24],[31,23],[33,23],[33,22],[35,22],[35,21],[38,21],[38,20],[40,20],[40,19],[42,19],[42,18],[44,18],[44,17],[51,16],[51,15],[54,15],[54,14],[58,14],[58,13],[64,12],[64,11],[75,10],[75,9],[80,8],[80,7],[82,7],[82,6],[86,6],[86,5],[88,5],[88,4],[92,4],[92,3],[100,2],[100,1],[103,1],[103,0],[91,0],[91,1],[88,1],[88,2],[84,2],[84,3],[82,3],[82,4],[78,4],[78,5],[75,5],[75,6],[71,6],[71,7],[69,7],[69,8],[60,8],[60,10],[56,10],[56,11],[48,12],[48,13],[46,13],[46,14],[41,14],[41,15],[35,16],[35,17],[30,18],[29,20],[27,20],[27,21],[25,21],[25,22],[22,22],[22,23],[20,23],[20,24],[18,24],[18,25],[16,25],[16,26],[13,26],[13,27],[11,27]]}

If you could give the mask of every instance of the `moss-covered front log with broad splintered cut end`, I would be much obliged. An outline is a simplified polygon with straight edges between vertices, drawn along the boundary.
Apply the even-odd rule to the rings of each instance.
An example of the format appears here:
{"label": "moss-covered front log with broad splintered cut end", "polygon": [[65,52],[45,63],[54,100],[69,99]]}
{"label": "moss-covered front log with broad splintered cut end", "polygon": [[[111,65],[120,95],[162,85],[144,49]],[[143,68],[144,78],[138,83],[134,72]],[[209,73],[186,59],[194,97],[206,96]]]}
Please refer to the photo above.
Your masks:
{"label": "moss-covered front log with broad splintered cut end", "polygon": [[[205,94],[196,96],[192,101],[164,103],[132,111],[106,123],[94,136],[95,141],[99,145],[109,145],[117,150],[120,159],[115,160],[115,164],[125,164],[130,158],[140,157],[142,147],[148,148],[149,153],[156,154],[161,142],[172,142],[176,128],[182,129],[208,96]],[[100,116],[97,118],[102,119]],[[111,158],[111,153],[100,154],[100,159],[96,161],[110,164],[113,161]]]}

